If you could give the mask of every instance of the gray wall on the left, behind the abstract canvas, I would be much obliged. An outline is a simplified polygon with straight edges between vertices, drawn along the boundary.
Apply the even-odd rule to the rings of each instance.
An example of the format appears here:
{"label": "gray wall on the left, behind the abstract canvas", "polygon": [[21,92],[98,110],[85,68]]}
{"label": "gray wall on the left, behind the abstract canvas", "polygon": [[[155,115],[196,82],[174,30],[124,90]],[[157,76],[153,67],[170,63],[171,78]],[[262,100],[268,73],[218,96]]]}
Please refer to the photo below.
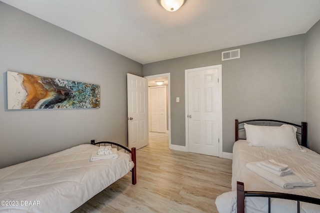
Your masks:
{"label": "gray wall on the left, behind the abstract canvas", "polygon": [[[6,71],[99,84],[99,109],[7,110]],[[91,139],[127,145],[126,73],[142,65],[0,2],[0,168]]]}

